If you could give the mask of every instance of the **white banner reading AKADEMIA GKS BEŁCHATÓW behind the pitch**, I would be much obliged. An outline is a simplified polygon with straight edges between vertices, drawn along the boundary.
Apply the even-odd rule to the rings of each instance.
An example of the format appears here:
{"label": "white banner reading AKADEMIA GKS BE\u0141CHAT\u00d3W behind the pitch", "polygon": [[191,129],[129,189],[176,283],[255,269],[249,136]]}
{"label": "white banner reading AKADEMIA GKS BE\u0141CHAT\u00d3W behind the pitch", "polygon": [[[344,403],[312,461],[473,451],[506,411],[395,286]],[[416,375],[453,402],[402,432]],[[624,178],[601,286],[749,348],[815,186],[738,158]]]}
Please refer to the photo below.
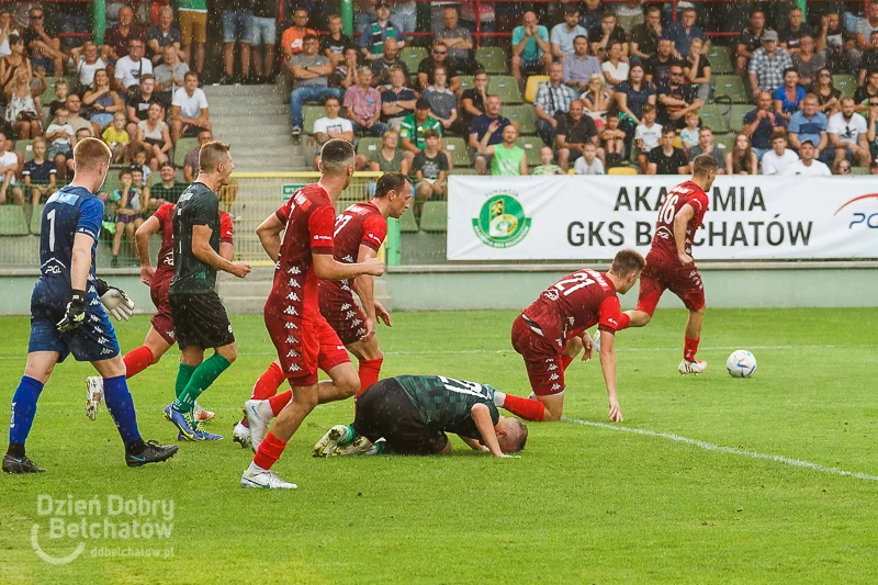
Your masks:
{"label": "white banner reading AKADEMIA GKS BE\u0141CHAT\u00d3W behind the pitch", "polygon": [[[676,176],[449,178],[449,260],[610,260],[650,248]],[[697,260],[878,258],[878,180],[719,177]]]}

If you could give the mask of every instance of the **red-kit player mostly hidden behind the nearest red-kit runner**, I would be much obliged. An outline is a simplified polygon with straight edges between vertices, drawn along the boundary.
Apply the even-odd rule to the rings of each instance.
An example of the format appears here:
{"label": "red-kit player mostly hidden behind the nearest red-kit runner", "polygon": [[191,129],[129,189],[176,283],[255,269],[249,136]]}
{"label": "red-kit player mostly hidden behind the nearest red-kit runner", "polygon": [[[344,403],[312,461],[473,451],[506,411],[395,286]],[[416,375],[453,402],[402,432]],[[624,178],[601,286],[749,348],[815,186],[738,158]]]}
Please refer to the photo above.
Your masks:
{"label": "red-kit player mostly hidden behind the nearest red-kit runner", "polygon": [[[368,258],[374,258],[387,234],[387,217],[398,220],[408,209],[410,199],[412,183],[408,177],[401,172],[383,175],[378,180],[375,195],[370,202],[354,203],[336,218],[333,238],[336,261],[350,265],[354,262],[354,258],[360,263]],[[353,300],[352,291],[360,297],[362,311]],[[374,384],[381,374],[384,356],[375,337],[375,324],[380,318],[390,327],[391,316],[381,303],[375,301],[371,274],[360,274],[356,279],[339,281],[320,280],[319,305],[320,314],[338,334],[345,348],[357,357],[359,364],[354,375],[350,359],[344,349],[331,344],[322,344],[317,361],[320,369],[333,379],[333,384],[338,391],[338,395],[328,397],[339,400],[359,395],[359,392]],[[333,358],[327,355],[328,352],[337,357]],[[285,378],[280,361],[275,360],[257,380],[250,400],[244,405],[245,413],[249,413],[250,418],[255,417],[254,431],[249,430],[249,421],[245,416],[235,425],[232,432],[233,440],[239,442],[241,447],[251,445],[254,449],[259,448],[269,420],[292,398],[291,390],[275,395]],[[322,395],[320,403],[325,402],[325,398],[327,396]]]}

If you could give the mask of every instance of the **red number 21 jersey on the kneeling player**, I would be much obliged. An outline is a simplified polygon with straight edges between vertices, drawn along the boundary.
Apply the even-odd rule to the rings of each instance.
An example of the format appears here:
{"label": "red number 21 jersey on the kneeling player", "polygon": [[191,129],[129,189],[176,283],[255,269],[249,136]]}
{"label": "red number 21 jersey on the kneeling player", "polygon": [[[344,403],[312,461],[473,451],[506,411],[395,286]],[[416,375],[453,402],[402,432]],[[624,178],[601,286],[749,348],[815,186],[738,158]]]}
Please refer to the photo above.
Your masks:
{"label": "red number 21 jersey on the kneeling player", "polygon": [[620,313],[612,281],[594,270],[577,270],[545,289],[522,315],[531,328],[563,348],[596,323],[601,330],[616,331]]}

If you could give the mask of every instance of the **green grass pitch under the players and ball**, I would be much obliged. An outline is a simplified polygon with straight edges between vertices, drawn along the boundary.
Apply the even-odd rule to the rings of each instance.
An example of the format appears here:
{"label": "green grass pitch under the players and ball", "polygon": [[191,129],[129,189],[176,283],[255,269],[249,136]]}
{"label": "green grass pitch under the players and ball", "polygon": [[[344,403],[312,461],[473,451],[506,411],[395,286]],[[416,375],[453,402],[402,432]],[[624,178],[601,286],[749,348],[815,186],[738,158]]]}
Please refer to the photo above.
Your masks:
{"label": "green grass pitch under the players and ball", "polygon": [[[379,330],[382,375],[440,373],[527,395],[509,345],[514,317],[395,314],[393,329]],[[230,440],[243,401],[273,359],[261,316],[233,318],[240,357],[201,398],[226,439],[181,445],[166,464],[127,469],[105,408],[95,423],[83,413],[89,367],[64,363],[27,443],[48,472],[0,477],[0,583],[874,583],[878,482],[825,468],[878,475],[878,311],[709,310],[699,357],[710,367],[698,378],[676,370],[684,320],[660,310],[649,327],[618,336],[622,426],[733,451],[562,421],[531,424],[514,460],[471,452],[458,439],[441,458],[312,459],[329,426],[350,421],[346,402],[318,407],[274,468],[299,483],[291,493],[240,488],[251,455]],[[139,345],[148,326],[146,317],[120,326],[123,349]],[[2,318],[0,330],[8,413],[27,319]],[[755,353],[755,378],[727,374],[735,348]],[[172,351],[131,381],[145,438],[176,437],[161,417],[176,368]],[[607,421],[596,361],[567,371],[565,414]],[[38,497],[68,494],[173,500],[171,537],[86,539],[75,561],[46,563],[33,550],[34,525],[49,555],[79,540],[49,538]],[[136,556],[146,549],[167,558]],[[92,554],[102,550],[130,555]]]}

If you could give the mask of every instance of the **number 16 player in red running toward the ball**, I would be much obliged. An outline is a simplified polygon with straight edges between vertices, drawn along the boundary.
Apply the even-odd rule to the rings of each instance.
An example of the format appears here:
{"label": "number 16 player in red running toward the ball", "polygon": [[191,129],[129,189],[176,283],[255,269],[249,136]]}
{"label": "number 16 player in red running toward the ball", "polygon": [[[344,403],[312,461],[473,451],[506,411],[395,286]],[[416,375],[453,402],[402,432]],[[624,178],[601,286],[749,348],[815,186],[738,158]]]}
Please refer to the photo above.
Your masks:
{"label": "number 16 player in red running toward the ball", "polygon": [[683,361],[678,367],[682,374],[700,374],[707,369],[706,361],[695,359],[705,317],[705,285],[693,259],[693,238],[705,220],[710,202],[707,192],[713,185],[717,169],[713,157],[695,157],[693,178],[665,195],[646,255],[646,268],[640,279],[638,307],[626,311],[617,328],[645,326],[665,289],[676,294],[689,310]]}

